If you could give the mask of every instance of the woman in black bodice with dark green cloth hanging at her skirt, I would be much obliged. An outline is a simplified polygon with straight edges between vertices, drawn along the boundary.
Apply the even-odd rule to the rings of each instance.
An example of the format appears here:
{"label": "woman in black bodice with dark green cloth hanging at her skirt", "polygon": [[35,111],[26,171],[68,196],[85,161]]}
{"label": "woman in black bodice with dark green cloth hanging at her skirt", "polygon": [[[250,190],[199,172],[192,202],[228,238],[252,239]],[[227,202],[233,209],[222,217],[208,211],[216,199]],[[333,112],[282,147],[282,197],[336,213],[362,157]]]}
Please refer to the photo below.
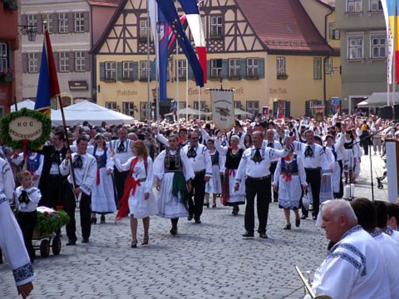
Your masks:
{"label": "woman in black bodice with dark green cloth hanging at her skirt", "polygon": [[154,161],[154,173],[157,177],[158,216],[170,218],[170,233],[178,232],[179,217],[189,215],[189,192],[194,170],[187,155],[179,147],[178,137],[170,135],[169,148],[163,150]]}

